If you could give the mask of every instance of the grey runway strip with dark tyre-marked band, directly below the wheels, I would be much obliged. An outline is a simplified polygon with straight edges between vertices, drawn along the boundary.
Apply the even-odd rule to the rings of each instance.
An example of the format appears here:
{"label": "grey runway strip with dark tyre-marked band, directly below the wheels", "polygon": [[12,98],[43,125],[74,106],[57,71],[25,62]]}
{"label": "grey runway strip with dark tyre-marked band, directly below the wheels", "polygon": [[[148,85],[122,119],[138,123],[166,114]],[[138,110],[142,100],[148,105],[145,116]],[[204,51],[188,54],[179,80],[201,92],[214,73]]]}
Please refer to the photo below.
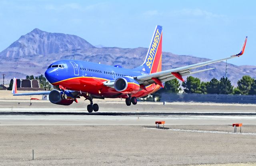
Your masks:
{"label": "grey runway strip with dark tyre-marked band, directly below the wheels", "polygon": [[0,125],[212,125],[256,123],[256,113],[241,112],[99,112],[0,111]]}

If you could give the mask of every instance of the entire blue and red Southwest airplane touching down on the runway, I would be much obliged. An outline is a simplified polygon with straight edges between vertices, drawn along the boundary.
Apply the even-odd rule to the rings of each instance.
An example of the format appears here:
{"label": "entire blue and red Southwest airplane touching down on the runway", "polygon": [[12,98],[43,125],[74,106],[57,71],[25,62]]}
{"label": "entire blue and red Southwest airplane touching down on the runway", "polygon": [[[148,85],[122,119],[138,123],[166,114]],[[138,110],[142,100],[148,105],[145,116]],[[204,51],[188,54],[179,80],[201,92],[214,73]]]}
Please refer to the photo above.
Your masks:
{"label": "entire blue and red Southwest airplane touching down on the runway", "polygon": [[137,97],[143,97],[164,87],[164,82],[180,79],[186,75],[214,69],[191,71],[198,67],[239,57],[244,53],[247,37],[242,50],[236,55],[206,61],[176,69],[162,71],[162,26],[156,26],[145,61],[134,69],[124,69],[120,65],[110,66],[87,61],[61,60],[52,63],[45,72],[46,79],[54,85],[52,91],[37,93],[17,93],[16,78],[12,94],[49,95],[50,102],[58,105],[70,105],[77,98],[90,101],[89,113],[97,112],[99,106],[92,99],[124,98],[126,105],[137,104]]}

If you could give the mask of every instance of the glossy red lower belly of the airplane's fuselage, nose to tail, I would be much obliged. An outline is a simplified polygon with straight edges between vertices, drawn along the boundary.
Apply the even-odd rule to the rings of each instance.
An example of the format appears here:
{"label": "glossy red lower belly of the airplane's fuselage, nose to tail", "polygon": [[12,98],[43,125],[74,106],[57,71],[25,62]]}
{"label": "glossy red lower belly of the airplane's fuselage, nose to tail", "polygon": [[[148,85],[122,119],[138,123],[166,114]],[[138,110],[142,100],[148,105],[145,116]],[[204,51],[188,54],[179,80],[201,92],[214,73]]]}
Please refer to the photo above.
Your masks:
{"label": "glossy red lower belly of the airplane's fuselage, nose to tail", "polygon": [[[93,78],[93,77],[75,77],[72,79],[66,79],[59,81],[57,83],[52,83],[52,85],[61,85],[67,90],[82,91],[85,93],[90,93],[92,95],[102,96],[105,98],[127,98],[126,94],[120,94],[114,88],[107,87],[103,85],[103,82],[107,79]],[[131,94],[132,97],[143,97],[150,93],[154,93],[160,89],[159,85],[151,84],[146,87],[146,90],[142,89],[137,93]],[[120,95],[118,95],[120,94]]]}

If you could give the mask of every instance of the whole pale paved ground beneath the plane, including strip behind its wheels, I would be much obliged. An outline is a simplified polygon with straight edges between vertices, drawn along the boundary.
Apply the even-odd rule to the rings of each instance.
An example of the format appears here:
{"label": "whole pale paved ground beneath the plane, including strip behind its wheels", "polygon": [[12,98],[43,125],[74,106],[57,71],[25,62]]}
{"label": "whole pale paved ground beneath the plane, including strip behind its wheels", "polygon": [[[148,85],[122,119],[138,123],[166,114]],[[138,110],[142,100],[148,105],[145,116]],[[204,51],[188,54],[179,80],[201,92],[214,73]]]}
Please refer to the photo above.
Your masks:
{"label": "whole pale paved ground beneath the plane, including strip behind its wheels", "polygon": [[86,103],[70,106],[49,101],[0,100],[0,125],[152,125],[166,121],[169,125],[256,124],[256,105],[219,103],[138,102],[126,106],[124,101],[102,101],[100,110],[88,113]]}

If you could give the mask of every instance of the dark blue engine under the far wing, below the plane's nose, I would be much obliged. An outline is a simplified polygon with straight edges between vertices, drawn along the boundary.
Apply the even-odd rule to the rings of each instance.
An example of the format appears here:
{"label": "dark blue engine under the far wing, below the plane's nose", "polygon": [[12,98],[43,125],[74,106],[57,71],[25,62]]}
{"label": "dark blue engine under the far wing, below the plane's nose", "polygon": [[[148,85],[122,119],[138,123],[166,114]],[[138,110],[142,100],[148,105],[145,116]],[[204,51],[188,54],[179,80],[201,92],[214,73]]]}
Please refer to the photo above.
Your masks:
{"label": "dark blue engine under the far wing, below the plane's nose", "polygon": [[53,89],[49,94],[50,102],[58,105],[71,105],[76,100],[69,91],[65,91],[65,94],[68,96],[67,99],[62,99],[62,94],[62,91]]}

